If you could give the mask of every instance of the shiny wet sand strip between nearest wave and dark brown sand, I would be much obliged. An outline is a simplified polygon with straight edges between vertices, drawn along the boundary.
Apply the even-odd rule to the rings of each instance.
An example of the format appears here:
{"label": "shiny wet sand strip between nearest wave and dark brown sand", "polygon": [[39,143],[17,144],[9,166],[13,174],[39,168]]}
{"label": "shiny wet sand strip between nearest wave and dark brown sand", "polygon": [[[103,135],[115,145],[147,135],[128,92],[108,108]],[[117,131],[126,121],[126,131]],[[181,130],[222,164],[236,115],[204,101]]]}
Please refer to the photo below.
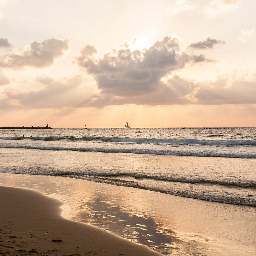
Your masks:
{"label": "shiny wet sand strip between nearest wave and dark brown sand", "polygon": [[256,252],[254,207],[48,175],[0,173],[0,185],[58,199],[65,219],[92,224],[164,255]]}

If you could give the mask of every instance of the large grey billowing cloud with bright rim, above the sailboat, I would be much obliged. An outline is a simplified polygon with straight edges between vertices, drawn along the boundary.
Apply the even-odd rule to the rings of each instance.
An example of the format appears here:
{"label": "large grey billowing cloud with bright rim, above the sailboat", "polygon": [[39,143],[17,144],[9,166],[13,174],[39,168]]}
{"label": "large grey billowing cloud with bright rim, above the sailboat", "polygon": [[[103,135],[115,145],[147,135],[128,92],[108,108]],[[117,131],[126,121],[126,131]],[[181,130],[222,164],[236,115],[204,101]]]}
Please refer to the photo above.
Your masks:
{"label": "large grey billowing cloud with bright rim, above the sailboat", "polygon": [[137,97],[155,93],[165,86],[161,79],[172,71],[208,60],[204,55],[180,52],[179,38],[166,36],[151,47],[131,51],[123,44],[97,58],[98,49],[86,45],[74,63],[94,76],[102,95]]}

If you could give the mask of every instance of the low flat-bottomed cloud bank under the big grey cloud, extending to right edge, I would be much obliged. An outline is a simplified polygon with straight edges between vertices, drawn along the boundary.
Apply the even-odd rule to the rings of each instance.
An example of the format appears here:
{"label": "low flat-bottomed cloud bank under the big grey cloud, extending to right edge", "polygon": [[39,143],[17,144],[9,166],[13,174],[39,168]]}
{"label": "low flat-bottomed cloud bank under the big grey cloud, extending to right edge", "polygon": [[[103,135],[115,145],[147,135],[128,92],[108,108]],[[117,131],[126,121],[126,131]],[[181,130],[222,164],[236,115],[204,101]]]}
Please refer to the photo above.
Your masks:
{"label": "low flat-bottomed cloud bank under the big grey cloud, extending to right edge", "polygon": [[214,81],[195,83],[173,75],[165,83],[159,83],[157,90],[148,92],[148,94],[126,95],[125,97],[99,95],[90,106],[256,104],[255,95],[254,79],[234,78],[226,75],[217,77]]}

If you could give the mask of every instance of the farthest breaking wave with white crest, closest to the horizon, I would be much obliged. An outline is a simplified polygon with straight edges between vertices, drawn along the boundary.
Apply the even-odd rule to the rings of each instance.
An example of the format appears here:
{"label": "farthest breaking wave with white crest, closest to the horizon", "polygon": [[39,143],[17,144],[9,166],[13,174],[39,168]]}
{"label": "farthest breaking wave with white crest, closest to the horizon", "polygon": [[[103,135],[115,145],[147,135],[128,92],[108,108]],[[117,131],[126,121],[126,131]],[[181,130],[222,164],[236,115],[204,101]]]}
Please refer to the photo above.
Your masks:
{"label": "farthest breaking wave with white crest, closest to the horizon", "polygon": [[[210,135],[207,137],[217,137],[218,135]],[[173,139],[173,138],[130,138],[130,137],[107,137],[107,136],[36,136],[36,137],[0,137],[0,140],[69,140],[69,141],[91,141],[99,140],[103,142],[115,142],[115,143],[158,143],[158,144],[192,144],[192,145],[213,145],[213,146],[256,146],[256,140],[199,140],[199,139]]]}

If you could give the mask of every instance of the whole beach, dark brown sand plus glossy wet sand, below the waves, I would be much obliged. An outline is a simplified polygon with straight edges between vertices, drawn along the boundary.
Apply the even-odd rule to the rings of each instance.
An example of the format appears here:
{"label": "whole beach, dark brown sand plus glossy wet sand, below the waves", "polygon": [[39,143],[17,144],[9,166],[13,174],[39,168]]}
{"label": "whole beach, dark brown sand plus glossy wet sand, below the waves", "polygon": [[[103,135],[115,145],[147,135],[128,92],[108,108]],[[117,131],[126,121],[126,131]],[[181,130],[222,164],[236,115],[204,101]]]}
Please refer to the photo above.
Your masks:
{"label": "whole beach, dark brown sand plus glossy wet sand, below the waves", "polygon": [[1,255],[256,255],[254,207],[65,177],[0,178]]}

